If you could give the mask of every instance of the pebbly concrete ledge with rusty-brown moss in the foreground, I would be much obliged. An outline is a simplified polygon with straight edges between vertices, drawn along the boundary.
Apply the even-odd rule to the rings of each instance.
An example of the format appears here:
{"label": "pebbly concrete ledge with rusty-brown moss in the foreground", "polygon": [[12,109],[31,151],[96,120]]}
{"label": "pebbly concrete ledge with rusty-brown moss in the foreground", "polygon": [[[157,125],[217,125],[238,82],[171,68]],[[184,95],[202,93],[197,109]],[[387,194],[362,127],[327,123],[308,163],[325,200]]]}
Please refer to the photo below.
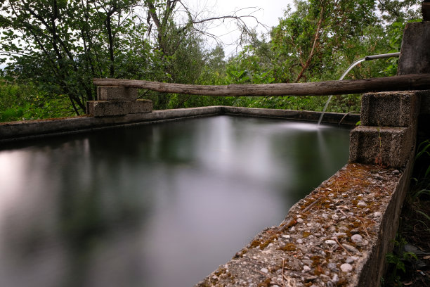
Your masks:
{"label": "pebbly concrete ledge with rusty-brown moss in the foreground", "polygon": [[346,165],[197,286],[379,286],[410,170]]}

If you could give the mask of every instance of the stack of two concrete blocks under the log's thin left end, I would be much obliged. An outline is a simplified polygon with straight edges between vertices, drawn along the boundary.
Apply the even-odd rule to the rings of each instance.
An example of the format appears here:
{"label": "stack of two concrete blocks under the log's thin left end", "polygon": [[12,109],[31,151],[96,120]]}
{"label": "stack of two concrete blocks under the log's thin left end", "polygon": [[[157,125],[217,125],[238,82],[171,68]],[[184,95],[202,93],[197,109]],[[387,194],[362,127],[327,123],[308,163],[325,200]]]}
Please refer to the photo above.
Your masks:
{"label": "stack of two concrete blocks under the log's thin left end", "polygon": [[89,101],[86,113],[93,117],[151,113],[152,101],[138,100],[135,88],[97,87],[97,101]]}

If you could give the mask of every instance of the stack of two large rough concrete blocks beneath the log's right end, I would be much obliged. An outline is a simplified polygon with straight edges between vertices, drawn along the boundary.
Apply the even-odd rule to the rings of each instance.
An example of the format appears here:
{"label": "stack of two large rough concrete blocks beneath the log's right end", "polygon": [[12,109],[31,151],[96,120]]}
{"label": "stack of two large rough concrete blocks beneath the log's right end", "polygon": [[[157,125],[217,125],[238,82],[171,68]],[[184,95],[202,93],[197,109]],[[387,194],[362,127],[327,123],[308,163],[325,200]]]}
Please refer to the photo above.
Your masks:
{"label": "stack of two large rough concrete blocks beneath the log's right end", "polygon": [[361,125],[350,136],[350,162],[402,168],[415,145],[418,91],[364,94]]}

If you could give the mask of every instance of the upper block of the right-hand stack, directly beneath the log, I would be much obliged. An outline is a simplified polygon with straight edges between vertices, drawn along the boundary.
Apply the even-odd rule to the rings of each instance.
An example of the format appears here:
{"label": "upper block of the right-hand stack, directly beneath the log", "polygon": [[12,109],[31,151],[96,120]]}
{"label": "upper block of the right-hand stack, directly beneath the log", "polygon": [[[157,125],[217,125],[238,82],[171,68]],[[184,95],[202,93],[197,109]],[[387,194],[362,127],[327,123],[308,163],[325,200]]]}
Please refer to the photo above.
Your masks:
{"label": "upper block of the right-hand stack, directly beneath the log", "polygon": [[361,125],[408,127],[415,125],[419,113],[419,92],[384,91],[364,94]]}

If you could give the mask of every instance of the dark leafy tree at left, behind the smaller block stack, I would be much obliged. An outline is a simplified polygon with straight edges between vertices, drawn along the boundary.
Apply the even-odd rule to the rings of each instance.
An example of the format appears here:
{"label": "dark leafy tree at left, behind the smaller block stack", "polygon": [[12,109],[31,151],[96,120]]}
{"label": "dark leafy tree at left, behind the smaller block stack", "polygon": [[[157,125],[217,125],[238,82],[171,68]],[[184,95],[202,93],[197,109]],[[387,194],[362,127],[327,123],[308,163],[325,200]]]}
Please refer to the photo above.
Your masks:
{"label": "dark leafy tree at left, behind the smaller block stack", "polygon": [[[93,77],[124,74],[145,27],[129,13],[136,1],[6,0],[0,4],[1,51],[13,60],[9,72],[49,94],[66,95],[75,113],[94,98]],[[125,63],[124,63],[125,62]]]}

